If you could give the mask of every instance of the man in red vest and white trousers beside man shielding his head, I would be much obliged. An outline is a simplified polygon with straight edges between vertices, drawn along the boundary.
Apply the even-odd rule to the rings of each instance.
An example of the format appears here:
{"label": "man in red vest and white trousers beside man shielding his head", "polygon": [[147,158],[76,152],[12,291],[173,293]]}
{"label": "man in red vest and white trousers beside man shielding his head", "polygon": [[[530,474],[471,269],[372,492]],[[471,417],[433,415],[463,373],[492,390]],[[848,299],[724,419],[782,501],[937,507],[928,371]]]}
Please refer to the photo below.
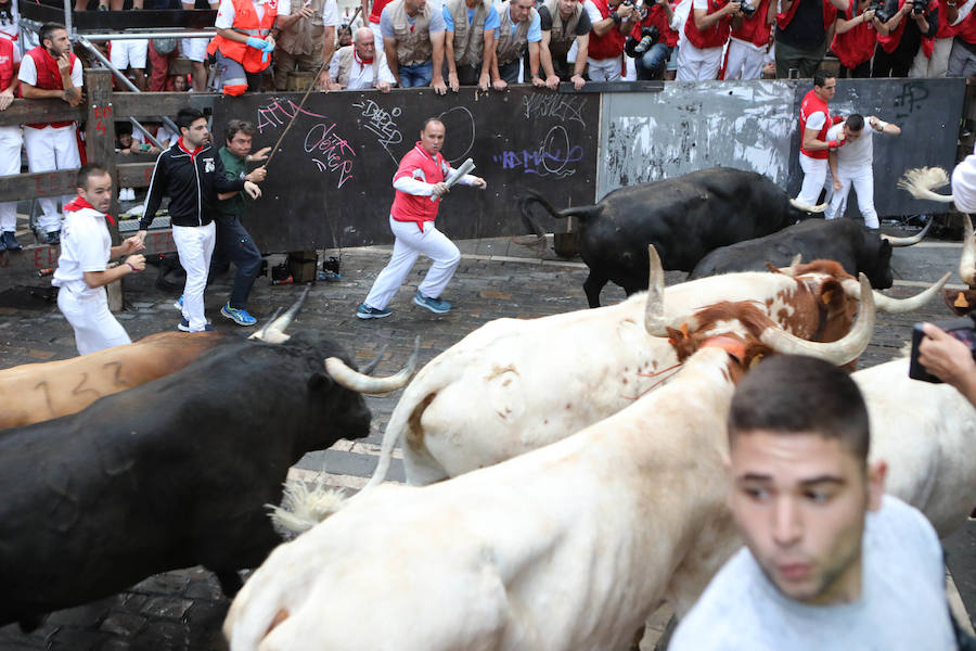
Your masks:
{"label": "man in red vest and white trousers beside man shielding his head", "polygon": [[[827,156],[831,150],[844,144],[839,140],[826,140],[826,132],[839,118],[831,118],[827,102],[837,91],[837,79],[825,71],[813,74],[813,90],[809,91],[800,103],[800,167],[804,170],[804,186],[796,203],[800,209],[812,210],[820,199],[827,174]],[[843,132],[842,132],[843,136]]]}

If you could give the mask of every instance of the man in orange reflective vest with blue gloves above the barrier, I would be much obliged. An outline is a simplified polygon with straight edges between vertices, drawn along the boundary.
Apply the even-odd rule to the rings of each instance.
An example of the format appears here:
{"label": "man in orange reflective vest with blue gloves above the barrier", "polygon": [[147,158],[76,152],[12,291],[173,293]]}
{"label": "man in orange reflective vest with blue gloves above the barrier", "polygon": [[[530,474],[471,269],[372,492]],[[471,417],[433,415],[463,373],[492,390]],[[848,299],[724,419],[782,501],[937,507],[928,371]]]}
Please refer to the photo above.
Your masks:
{"label": "man in orange reflective vest with blue gloves above the barrier", "polygon": [[261,73],[268,69],[274,51],[271,29],[277,16],[278,0],[220,0],[214,23],[217,36],[207,53],[217,58],[223,94],[260,90]]}

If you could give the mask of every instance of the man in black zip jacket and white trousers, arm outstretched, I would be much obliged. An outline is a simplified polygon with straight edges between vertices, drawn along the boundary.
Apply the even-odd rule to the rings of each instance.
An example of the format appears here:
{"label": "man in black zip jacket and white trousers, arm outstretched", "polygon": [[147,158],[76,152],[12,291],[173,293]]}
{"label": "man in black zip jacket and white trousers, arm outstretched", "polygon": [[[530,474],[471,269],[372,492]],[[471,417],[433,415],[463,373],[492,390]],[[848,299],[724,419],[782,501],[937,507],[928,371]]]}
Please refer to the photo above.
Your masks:
{"label": "man in black zip jacket and white trousers, arm outstretched", "polygon": [[210,146],[207,119],[200,111],[183,108],[176,123],[180,139],[156,158],[138,237],[145,240],[163,196],[169,196],[172,241],[180,265],[187,270],[183,318],[178,328],[183,332],[200,332],[214,329],[204,315],[203,293],[216,241],[217,193],[244,190],[257,199],[261,191],[251,181],[227,178],[217,150]]}

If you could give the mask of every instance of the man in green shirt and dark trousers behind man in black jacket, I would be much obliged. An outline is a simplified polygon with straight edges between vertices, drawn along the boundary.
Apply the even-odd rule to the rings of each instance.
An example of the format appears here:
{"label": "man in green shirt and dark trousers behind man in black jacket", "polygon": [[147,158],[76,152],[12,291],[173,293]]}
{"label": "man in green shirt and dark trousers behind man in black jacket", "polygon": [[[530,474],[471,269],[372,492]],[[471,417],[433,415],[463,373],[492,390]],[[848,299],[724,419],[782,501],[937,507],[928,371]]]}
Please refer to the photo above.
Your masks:
{"label": "man in green shirt and dark trousers behind man in black jacket", "polygon": [[[264,166],[249,173],[247,163],[266,161],[270,146],[251,154],[252,138],[257,132],[254,125],[241,119],[232,119],[227,124],[227,144],[220,148],[220,161],[227,170],[228,179],[244,179],[260,183],[267,176]],[[234,286],[230,299],[220,308],[220,314],[239,326],[254,326],[257,319],[247,314],[247,295],[261,269],[261,252],[241,224],[244,214],[244,196],[240,192],[220,193],[217,217],[217,245],[210,260],[210,278],[215,271],[226,270],[230,263],[237,268]]]}

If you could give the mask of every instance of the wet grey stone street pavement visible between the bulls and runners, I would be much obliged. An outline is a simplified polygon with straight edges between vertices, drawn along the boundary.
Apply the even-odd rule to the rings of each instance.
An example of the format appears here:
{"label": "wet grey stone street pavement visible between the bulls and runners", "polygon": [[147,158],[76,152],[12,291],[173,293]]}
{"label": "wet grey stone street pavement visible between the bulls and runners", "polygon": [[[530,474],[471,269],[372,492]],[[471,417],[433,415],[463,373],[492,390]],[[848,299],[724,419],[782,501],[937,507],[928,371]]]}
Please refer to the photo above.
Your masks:
{"label": "wet grey stone street pavement visible between the bulls and runners", "polygon": [[[465,255],[445,293],[445,298],[454,305],[448,315],[436,316],[411,303],[427,269],[427,264],[421,261],[390,305],[391,317],[371,321],[357,319],[356,306],[385,265],[388,247],[332,251],[325,255],[342,255],[342,280],[311,285],[305,308],[292,330],[326,330],[362,361],[387,346],[376,372],[388,374],[402,366],[418,335],[421,336],[420,363],[425,363],[488,320],[531,318],[587,307],[582,292],[587,272],[578,260],[561,260],[551,250],[540,259],[535,247],[508,240],[468,241],[460,246]],[[924,243],[896,250],[896,278],[900,280],[888,293],[899,297],[914,294],[919,291],[915,282],[954,270],[958,255],[955,243]],[[683,276],[669,272],[667,281],[673,284]],[[179,320],[179,314],[171,305],[176,295],[157,290],[154,280],[153,268],[127,279],[129,309],[118,318],[133,340],[172,330]],[[243,336],[249,330],[234,326],[218,314],[230,280],[230,276],[222,277],[208,289],[207,314],[218,330]],[[958,278],[955,282],[959,282]],[[47,279],[27,275],[18,283],[38,288],[48,285]],[[259,279],[249,307],[264,320],[274,308],[287,307],[303,289],[272,286],[267,279]],[[622,297],[622,291],[615,285],[607,285],[603,293],[604,304]],[[915,321],[946,318],[950,318],[948,309],[935,302],[911,315],[879,315],[875,336],[862,357],[862,366],[873,366],[898,355],[901,346],[910,341]],[[0,368],[74,355],[70,328],[53,303],[46,303],[18,286],[0,292]],[[339,442],[328,451],[309,454],[293,472],[303,477],[325,473],[330,483],[347,488],[364,484],[375,465],[382,432],[398,395],[367,398],[374,416],[368,438],[355,444]],[[402,467],[398,461],[395,461],[390,478],[402,481]],[[146,579],[121,595],[54,613],[31,635],[21,634],[16,626],[0,628],[0,650],[224,649],[219,629],[227,608],[228,601],[208,572],[198,567],[170,572]],[[973,611],[972,605],[969,611]],[[666,618],[667,613],[656,615],[656,631],[652,631],[646,641],[653,643]]]}

